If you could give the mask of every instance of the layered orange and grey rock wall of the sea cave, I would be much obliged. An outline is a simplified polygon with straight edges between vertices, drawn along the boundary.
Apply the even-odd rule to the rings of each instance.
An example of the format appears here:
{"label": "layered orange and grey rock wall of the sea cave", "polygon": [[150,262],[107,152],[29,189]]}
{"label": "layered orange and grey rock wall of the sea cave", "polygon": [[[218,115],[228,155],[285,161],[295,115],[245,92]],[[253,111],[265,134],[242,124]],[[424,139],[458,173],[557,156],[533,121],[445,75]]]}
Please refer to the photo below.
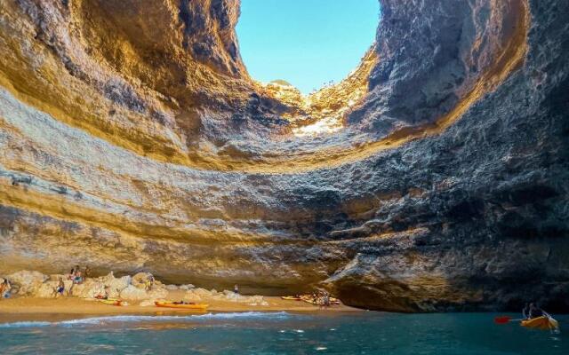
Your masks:
{"label": "layered orange and grey rock wall of the sea cave", "polygon": [[0,273],[569,308],[566,2],[381,0],[308,101],[247,75],[236,1],[0,4]]}

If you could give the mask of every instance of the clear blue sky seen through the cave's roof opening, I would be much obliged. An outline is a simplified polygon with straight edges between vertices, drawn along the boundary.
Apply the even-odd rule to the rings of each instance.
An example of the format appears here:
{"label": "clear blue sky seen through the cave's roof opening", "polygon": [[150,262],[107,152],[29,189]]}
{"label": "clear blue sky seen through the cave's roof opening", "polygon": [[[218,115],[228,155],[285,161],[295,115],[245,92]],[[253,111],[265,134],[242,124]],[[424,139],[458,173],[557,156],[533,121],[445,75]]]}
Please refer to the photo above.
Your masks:
{"label": "clear blue sky seen through the cave's roof opening", "polygon": [[254,79],[309,93],[357,67],[379,16],[378,0],[241,0],[236,31]]}

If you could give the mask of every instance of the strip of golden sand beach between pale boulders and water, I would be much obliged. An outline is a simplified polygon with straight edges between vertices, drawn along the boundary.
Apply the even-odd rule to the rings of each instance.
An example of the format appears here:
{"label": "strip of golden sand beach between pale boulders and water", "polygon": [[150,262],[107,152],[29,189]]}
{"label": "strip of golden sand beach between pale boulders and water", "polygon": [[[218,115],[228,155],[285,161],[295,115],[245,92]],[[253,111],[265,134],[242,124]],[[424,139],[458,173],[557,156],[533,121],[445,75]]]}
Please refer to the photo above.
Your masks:
{"label": "strip of golden sand beach between pale boulders and water", "polygon": [[[171,291],[169,298],[182,299],[183,292]],[[241,304],[231,301],[204,299],[200,303],[209,304],[206,312],[360,312],[346,305],[334,305],[326,309],[301,301],[283,300],[276,296],[265,296],[268,305]],[[139,301],[127,301],[129,305],[118,307],[97,301],[76,297],[58,299],[14,297],[0,301],[0,323],[30,320],[64,320],[100,315],[176,315],[203,314],[200,311],[176,310],[155,306],[142,307]]]}

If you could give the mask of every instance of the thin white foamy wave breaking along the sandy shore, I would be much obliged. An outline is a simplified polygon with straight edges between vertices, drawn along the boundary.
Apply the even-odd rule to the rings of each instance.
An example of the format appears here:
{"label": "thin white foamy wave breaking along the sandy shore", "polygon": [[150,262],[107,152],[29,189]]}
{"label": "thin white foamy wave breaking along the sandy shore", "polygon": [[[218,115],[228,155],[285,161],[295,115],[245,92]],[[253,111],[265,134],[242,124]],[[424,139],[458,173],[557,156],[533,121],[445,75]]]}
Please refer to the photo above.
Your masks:
{"label": "thin white foamy wave breaking along the sandy shore", "polygon": [[1,327],[47,327],[47,326],[90,326],[104,323],[124,323],[140,321],[189,321],[203,319],[287,319],[291,315],[287,312],[230,312],[230,313],[207,313],[188,316],[105,316],[84,319],[70,319],[59,322],[45,321],[22,321],[12,323],[0,323]]}

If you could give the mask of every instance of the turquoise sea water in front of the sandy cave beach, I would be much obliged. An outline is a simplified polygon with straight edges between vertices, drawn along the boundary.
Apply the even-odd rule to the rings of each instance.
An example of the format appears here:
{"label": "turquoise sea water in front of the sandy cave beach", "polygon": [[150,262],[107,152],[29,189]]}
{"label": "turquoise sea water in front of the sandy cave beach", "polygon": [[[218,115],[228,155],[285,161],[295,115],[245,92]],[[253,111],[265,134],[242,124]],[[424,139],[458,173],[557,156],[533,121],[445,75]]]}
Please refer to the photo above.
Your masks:
{"label": "turquoise sea water in front of the sandy cave beach", "polygon": [[562,332],[491,313],[217,313],[2,323],[3,354],[569,354]]}

